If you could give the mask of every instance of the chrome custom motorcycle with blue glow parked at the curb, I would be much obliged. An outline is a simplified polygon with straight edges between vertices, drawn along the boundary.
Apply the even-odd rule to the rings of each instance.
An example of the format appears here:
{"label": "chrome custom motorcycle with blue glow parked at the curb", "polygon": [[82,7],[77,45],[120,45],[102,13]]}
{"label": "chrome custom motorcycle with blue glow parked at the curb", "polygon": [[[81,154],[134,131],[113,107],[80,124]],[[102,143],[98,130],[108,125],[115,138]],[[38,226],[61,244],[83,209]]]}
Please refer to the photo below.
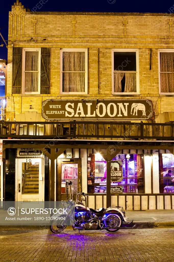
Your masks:
{"label": "chrome custom motorcycle with blue glow parked at the curb", "polygon": [[[68,183],[71,199],[71,185],[72,182]],[[79,192],[76,196],[75,202],[75,225],[72,226],[73,230],[102,230],[106,229],[109,232],[116,232],[119,229],[133,228],[133,220],[130,222],[126,221],[125,211],[120,206],[110,206],[109,208],[99,208],[97,210],[88,208],[86,206],[87,194]],[[79,197],[81,201],[79,201]],[[83,202],[83,203],[82,203]],[[84,204],[85,203],[85,204]],[[121,210],[119,209],[121,208]],[[53,220],[50,230],[53,233],[62,232],[67,226],[58,225],[56,220]]]}

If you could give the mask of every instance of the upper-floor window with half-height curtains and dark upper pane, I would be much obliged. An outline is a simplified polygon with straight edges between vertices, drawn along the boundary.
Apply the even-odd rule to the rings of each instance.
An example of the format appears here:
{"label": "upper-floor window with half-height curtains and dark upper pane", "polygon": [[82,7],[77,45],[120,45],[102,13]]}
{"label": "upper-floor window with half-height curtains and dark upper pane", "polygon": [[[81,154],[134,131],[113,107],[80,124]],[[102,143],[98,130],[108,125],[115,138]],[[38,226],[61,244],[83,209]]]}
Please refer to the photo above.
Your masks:
{"label": "upper-floor window with half-height curtains and dark upper pane", "polygon": [[112,50],[112,93],[139,93],[138,49]]}

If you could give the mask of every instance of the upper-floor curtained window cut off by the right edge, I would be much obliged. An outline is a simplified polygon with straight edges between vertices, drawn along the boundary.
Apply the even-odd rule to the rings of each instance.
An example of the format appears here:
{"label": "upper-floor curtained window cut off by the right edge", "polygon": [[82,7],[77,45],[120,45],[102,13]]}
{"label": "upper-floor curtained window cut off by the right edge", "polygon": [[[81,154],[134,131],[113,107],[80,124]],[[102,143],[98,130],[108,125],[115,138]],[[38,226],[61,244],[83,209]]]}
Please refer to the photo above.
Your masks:
{"label": "upper-floor curtained window cut off by the right edge", "polygon": [[158,50],[159,93],[174,94],[174,49]]}

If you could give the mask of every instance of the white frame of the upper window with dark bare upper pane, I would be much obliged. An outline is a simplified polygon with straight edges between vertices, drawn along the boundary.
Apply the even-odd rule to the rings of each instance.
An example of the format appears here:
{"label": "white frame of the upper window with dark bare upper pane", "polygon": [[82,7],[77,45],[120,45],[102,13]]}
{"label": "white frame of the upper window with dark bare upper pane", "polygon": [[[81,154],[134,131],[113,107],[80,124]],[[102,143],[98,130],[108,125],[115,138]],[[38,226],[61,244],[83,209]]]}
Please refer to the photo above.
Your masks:
{"label": "white frame of the upper window with dark bare upper pane", "polygon": [[[114,52],[136,52],[136,92],[114,92]],[[130,71],[118,71],[118,73],[130,73]],[[132,71],[134,72],[134,71]],[[113,95],[139,95],[139,55],[138,48],[114,48],[112,49],[112,94]]]}

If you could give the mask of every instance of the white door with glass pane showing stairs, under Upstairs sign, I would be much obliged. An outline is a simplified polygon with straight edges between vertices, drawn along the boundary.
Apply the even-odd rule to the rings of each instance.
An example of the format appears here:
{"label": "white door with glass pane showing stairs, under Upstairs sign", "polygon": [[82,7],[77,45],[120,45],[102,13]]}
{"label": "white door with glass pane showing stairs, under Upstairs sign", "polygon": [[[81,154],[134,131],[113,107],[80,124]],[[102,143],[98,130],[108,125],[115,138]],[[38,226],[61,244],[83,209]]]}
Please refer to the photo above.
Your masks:
{"label": "white door with glass pane showing stairs, under Upstairs sign", "polygon": [[43,159],[18,159],[16,201],[44,201]]}

